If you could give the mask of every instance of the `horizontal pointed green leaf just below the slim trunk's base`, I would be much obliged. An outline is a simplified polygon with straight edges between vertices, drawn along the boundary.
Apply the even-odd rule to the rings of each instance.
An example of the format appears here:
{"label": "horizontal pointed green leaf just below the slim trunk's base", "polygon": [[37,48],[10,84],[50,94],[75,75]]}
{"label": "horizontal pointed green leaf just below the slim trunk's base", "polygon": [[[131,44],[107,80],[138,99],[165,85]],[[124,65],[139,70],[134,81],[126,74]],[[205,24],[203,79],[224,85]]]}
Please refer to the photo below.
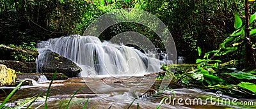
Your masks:
{"label": "horizontal pointed green leaf just below the slim trunk's base", "polygon": [[239,79],[248,79],[248,80],[256,79],[256,75],[252,75],[251,73],[246,73],[242,71],[236,71],[234,73],[225,73],[225,74],[229,74]]}

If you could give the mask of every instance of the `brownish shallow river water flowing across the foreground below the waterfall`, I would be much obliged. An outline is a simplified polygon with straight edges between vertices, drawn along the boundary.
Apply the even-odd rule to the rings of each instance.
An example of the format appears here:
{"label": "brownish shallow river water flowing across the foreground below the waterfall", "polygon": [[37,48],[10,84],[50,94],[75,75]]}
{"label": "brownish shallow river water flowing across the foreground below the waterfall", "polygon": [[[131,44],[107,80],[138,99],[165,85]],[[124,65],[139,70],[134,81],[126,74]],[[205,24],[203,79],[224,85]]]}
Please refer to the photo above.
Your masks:
{"label": "brownish shallow river water flowing across the foreground below the waterfall", "polygon": [[[208,101],[206,99],[218,99],[215,93],[205,92],[201,89],[185,89],[177,86],[175,83],[171,83],[169,85],[169,87],[173,89],[166,90],[161,94],[158,94],[156,93],[157,85],[160,84],[161,81],[155,82],[155,80],[156,78],[154,76],[133,76],[129,79],[104,77],[54,80],[49,92],[49,98],[47,99],[47,108],[60,108],[62,103],[63,105],[61,108],[65,108],[74,92],[81,87],[83,87],[83,89],[74,95],[74,98],[72,99],[68,108],[83,108],[84,103],[86,103],[88,98],[89,100],[86,108],[109,108],[109,106],[111,106],[111,108],[127,108],[132,103],[132,100],[136,97],[138,97],[138,99],[132,103],[131,108],[137,108],[138,105],[140,108],[156,108],[161,102],[161,99],[164,97],[168,97],[168,99],[163,101],[161,108],[240,108],[238,105],[221,105],[221,102],[218,101],[215,101],[214,105],[214,102],[211,103],[209,99]],[[16,106],[26,99],[44,92],[44,94],[40,96],[40,98],[38,98],[33,105],[31,105],[31,108],[44,108],[45,94],[47,92],[49,82],[50,81],[42,82],[34,86],[20,87],[20,89],[8,101],[6,106]],[[152,82],[154,82],[153,85]],[[138,83],[140,83],[140,85],[138,85]],[[102,84],[109,85],[112,88],[101,87]],[[146,92],[140,91],[139,89],[141,89],[141,87],[148,87],[148,90]],[[4,89],[6,92],[10,92],[14,87],[0,88]],[[95,89],[92,88],[100,88],[100,91],[98,90],[98,92],[96,92],[97,94],[95,94]],[[0,102],[2,102],[7,95],[1,93],[0,96]],[[196,98],[202,99],[202,104],[196,104],[197,102],[195,101],[196,103],[193,105],[193,99]],[[222,95],[222,98],[230,99],[230,103],[232,102],[232,99],[235,99],[225,95]],[[179,102],[178,99],[183,99],[183,101]],[[189,99],[191,101],[189,101]],[[185,100],[188,104],[185,103]],[[255,108],[255,99],[238,98],[236,102],[237,104],[239,103],[238,101],[253,101],[254,106],[252,106],[252,108]]]}

